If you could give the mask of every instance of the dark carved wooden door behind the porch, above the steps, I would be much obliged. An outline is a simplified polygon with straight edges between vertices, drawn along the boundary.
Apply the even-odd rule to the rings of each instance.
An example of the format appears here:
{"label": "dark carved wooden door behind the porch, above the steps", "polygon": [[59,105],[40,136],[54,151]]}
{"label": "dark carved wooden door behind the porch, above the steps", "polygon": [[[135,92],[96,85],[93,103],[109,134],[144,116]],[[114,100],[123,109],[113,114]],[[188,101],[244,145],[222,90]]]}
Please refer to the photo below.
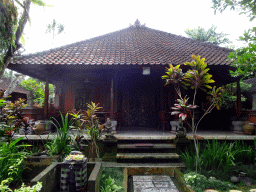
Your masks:
{"label": "dark carved wooden door behind the porch, above the steps", "polygon": [[136,78],[123,88],[122,113],[128,126],[156,127],[156,89],[147,77]]}

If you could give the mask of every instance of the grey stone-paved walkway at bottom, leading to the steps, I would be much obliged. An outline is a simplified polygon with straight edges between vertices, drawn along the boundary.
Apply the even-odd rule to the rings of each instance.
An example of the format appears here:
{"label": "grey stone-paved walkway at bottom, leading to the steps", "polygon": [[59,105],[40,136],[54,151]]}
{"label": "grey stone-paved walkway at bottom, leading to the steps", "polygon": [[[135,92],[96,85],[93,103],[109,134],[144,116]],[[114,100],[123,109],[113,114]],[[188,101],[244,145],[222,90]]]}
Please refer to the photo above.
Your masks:
{"label": "grey stone-paved walkway at bottom, leading to the steps", "polygon": [[169,176],[134,175],[134,192],[179,192]]}

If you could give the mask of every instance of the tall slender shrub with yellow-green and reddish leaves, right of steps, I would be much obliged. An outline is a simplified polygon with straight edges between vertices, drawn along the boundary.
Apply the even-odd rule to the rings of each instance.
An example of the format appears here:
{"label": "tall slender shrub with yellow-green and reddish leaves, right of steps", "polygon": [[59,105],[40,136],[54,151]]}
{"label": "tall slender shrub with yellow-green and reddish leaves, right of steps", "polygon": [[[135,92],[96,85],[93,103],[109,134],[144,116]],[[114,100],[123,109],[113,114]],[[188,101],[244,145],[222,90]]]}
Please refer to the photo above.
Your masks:
{"label": "tall slender shrub with yellow-green and reddish leaves, right of steps", "polygon": [[[173,109],[174,111],[171,113],[179,114],[179,118],[183,121],[186,121],[188,126],[192,129],[193,134],[193,140],[194,145],[196,149],[196,170],[198,165],[200,165],[199,161],[199,149],[198,149],[198,137],[196,136],[197,128],[200,123],[200,121],[203,119],[203,117],[210,113],[214,107],[217,107],[217,109],[220,108],[221,105],[221,94],[220,89],[216,88],[216,86],[211,87],[209,84],[214,83],[215,81],[212,79],[212,75],[208,73],[210,70],[207,68],[207,64],[204,62],[205,59],[201,59],[200,56],[192,55],[192,62],[187,62],[184,65],[189,66],[190,69],[183,73],[182,69],[180,68],[180,65],[177,65],[174,67],[172,64],[170,64],[169,68],[167,68],[166,75],[162,76],[162,79],[166,80],[166,84],[173,84],[175,87],[175,90],[179,96],[179,99],[177,99],[178,103],[174,104]],[[194,90],[194,96],[192,104],[188,104],[189,98],[185,96],[184,98],[181,95],[180,88],[182,87],[190,87]],[[199,89],[205,91],[208,93],[207,99],[210,101],[210,104],[208,105],[207,110],[204,112],[202,117],[199,119],[198,122],[195,122],[195,115],[194,115],[194,109],[196,109],[198,106],[195,105],[196,103],[196,95],[199,91]],[[210,91],[209,91],[210,90]],[[192,122],[188,122],[188,118],[192,119]]]}

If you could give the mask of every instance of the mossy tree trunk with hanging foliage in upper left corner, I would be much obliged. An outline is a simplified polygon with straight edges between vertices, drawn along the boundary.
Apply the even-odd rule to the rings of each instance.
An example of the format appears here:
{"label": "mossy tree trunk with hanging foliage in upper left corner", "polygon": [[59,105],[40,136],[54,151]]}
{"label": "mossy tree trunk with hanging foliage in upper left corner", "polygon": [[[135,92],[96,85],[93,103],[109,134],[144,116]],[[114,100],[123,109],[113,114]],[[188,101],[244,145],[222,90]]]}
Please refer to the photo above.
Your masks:
{"label": "mossy tree trunk with hanging foliage in upper left corner", "polygon": [[45,6],[45,3],[41,0],[0,1],[0,77],[14,53],[22,47],[20,40],[24,43],[22,34],[29,20],[31,2],[39,6]]}

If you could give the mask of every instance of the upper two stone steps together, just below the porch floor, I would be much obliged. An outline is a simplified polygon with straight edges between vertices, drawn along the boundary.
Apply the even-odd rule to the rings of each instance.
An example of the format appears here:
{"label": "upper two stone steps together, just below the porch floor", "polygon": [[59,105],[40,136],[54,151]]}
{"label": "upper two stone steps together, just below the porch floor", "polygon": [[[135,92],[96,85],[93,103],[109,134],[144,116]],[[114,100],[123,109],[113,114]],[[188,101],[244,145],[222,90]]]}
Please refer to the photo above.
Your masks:
{"label": "upper two stone steps together, just below the porch floor", "polygon": [[119,140],[116,159],[118,163],[180,163],[169,140]]}

